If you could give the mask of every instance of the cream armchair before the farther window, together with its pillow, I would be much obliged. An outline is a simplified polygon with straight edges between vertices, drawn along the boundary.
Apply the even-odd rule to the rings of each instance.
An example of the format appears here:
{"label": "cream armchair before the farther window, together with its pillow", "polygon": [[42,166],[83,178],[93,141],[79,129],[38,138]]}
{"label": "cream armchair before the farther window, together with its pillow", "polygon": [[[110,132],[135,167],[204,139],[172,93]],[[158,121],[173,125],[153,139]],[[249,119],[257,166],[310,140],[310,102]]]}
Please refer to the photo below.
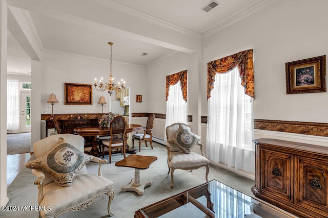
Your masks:
{"label": "cream armchair before the farther window, together with its pillow", "polygon": [[[171,188],[173,188],[173,172],[175,169],[185,171],[206,167],[206,181],[209,175],[209,160],[202,152],[202,144],[198,143],[199,136],[192,133],[191,126],[182,123],[175,123],[166,127],[168,166],[171,171]],[[194,146],[200,146],[201,154],[192,152]]]}

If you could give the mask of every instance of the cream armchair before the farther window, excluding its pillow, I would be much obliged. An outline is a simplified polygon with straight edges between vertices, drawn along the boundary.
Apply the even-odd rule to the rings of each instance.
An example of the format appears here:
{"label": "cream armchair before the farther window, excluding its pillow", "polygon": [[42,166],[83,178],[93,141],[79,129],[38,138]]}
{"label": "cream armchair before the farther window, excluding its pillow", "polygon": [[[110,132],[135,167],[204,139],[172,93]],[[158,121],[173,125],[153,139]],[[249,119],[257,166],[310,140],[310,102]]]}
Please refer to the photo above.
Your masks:
{"label": "cream armchair before the farther window, excluding its pillow", "polygon": [[183,170],[190,170],[191,172],[193,169],[198,169],[199,167],[205,166],[206,167],[206,181],[208,180],[209,175],[209,160],[205,157],[202,152],[202,144],[197,143],[195,145],[200,146],[201,155],[196,152],[190,152],[186,154],[186,151],[182,148],[178,148],[176,144],[170,143],[170,139],[176,136],[180,129],[187,129],[188,131],[192,132],[191,126],[182,123],[175,123],[168,127],[166,127],[166,136],[168,139],[167,142],[167,149],[168,149],[168,166],[169,172],[171,171],[171,188],[173,188],[174,180],[173,180],[173,172],[175,169],[183,169]]}

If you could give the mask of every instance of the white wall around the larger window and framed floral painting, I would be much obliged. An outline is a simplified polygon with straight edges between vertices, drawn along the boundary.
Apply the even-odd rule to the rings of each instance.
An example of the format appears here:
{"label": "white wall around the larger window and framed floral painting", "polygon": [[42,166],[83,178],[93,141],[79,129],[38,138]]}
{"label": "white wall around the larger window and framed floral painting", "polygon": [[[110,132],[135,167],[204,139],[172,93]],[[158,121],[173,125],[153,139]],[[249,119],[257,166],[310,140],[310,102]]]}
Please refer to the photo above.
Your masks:
{"label": "white wall around the larger window and framed floral painting", "polygon": [[[328,1],[277,1],[256,14],[202,40],[202,67],[237,52],[254,50],[254,118],[328,123],[328,93],[286,94],[285,63],[328,51]],[[202,95],[206,93],[206,70]],[[207,114],[206,98],[202,115]]]}

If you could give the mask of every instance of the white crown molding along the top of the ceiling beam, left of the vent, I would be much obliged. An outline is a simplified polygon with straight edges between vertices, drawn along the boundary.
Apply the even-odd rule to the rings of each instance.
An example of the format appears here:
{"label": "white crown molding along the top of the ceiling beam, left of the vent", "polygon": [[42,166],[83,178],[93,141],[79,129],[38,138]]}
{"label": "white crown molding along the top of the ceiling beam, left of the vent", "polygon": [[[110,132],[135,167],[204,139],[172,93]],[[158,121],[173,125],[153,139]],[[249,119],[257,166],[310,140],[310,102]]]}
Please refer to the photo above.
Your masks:
{"label": "white crown molding along the top of the ceiling beam, left of the vent", "polygon": [[101,5],[104,5],[106,7],[109,7],[111,9],[114,9],[116,11],[120,11],[122,13],[134,16],[136,18],[139,18],[139,19],[146,20],[148,22],[154,23],[155,25],[165,27],[169,30],[173,30],[175,32],[179,32],[179,33],[182,33],[182,34],[185,34],[185,35],[197,38],[197,39],[201,38],[201,35],[198,34],[198,33],[195,33],[195,32],[192,32],[190,30],[187,30],[185,28],[181,28],[179,26],[173,25],[170,22],[161,20],[159,18],[153,17],[153,16],[148,15],[146,13],[137,11],[135,9],[129,8],[129,7],[121,5],[121,4],[118,4],[118,3],[113,2],[111,0],[93,0],[93,1],[96,2],[96,3],[99,3]]}

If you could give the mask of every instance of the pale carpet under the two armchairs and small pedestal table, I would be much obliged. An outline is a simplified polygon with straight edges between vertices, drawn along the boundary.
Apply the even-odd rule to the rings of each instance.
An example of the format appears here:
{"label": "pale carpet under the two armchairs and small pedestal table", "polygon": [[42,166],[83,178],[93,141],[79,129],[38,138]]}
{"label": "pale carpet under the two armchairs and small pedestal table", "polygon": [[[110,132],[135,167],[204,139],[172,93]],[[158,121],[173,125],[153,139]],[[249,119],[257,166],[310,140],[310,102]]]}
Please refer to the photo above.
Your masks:
{"label": "pale carpet under the two armchairs and small pedestal table", "polygon": [[[177,169],[174,172],[174,188],[171,189],[171,177],[168,175],[167,166],[167,149],[156,142],[153,142],[153,145],[154,150],[145,147],[145,144],[142,143],[141,152],[137,153],[138,155],[156,156],[158,158],[148,169],[140,170],[141,181],[152,181],[152,185],[145,189],[144,196],[138,196],[133,191],[121,192],[121,187],[127,185],[134,177],[133,168],[115,166],[115,162],[123,158],[122,155],[112,155],[112,163],[101,166],[103,177],[114,182],[115,197],[111,204],[111,209],[114,212],[113,217],[132,218],[134,212],[142,207],[206,182],[205,167],[196,169],[193,172]],[[35,158],[34,155],[30,160],[33,158]],[[105,158],[108,159],[108,156],[105,156]],[[88,163],[87,168],[89,172],[97,174],[98,164]],[[35,179],[30,169],[22,169],[8,187],[8,205],[37,205],[37,187],[33,184]],[[253,180],[236,175],[226,169],[211,166],[209,180],[213,179],[253,196],[251,192],[251,187],[254,185]],[[103,195],[96,199],[86,210],[68,212],[60,217],[108,217],[107,203],[108,197]],[[1,217],[37,217],[37,214],[37,211],[0,212]]]}

